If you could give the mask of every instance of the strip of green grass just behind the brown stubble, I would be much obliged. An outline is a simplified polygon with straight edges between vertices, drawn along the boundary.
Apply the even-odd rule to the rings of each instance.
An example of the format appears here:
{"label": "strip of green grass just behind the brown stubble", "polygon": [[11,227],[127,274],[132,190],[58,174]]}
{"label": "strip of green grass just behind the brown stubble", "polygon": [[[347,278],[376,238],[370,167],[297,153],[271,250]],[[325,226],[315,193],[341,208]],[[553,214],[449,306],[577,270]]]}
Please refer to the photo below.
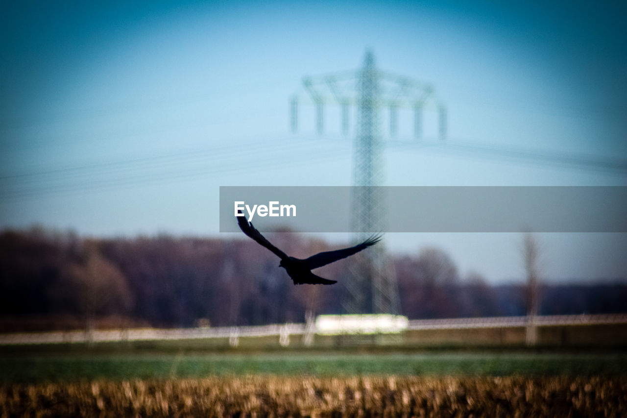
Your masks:
{"label": "strip of green grass just behind the brown stubble", "polygon": [[627,375],[623,353],[13,353],[0,358],[0,382],[225,375]]}

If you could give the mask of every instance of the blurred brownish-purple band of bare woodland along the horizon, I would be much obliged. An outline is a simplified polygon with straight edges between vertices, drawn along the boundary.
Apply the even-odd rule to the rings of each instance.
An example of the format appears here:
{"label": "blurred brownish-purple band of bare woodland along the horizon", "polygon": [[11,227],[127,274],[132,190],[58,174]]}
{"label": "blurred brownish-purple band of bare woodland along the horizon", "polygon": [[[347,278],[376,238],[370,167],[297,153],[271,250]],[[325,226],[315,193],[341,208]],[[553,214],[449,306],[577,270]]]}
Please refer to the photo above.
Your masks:
{"label": "blurred brownish-purple band of bare woodland along the horizon", "polygon": [[[295,233],[268,234],[295,257],[335,249]],[[85,238],[43,228],[0,232],[0,331],[118,326],[229,326],[303,322],[342,313],[350,259],[317,274],[334,286],[293,286],[278,258],[248,238],[159,235]],[[460,277],[439,249],[394,256],[401,313],[410,319],[512,316],[526,288]],[[550,284],[540,314],[627,311],[627,284]]]}

